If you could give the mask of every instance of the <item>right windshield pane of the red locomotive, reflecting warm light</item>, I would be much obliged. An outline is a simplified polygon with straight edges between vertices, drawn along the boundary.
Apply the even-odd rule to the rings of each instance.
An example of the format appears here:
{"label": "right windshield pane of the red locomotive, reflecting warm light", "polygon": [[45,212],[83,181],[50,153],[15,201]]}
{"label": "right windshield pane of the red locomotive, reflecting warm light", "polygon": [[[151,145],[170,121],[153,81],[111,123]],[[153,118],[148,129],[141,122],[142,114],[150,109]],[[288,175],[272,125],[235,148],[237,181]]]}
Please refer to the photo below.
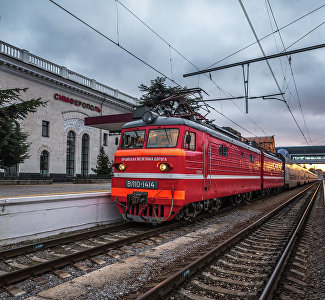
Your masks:
{"label": "right windshield pane of the red locomotive, reflecting warm light", "polygon": [[177,145],[177,128],[150,129],[147,148],[174,148]]}

